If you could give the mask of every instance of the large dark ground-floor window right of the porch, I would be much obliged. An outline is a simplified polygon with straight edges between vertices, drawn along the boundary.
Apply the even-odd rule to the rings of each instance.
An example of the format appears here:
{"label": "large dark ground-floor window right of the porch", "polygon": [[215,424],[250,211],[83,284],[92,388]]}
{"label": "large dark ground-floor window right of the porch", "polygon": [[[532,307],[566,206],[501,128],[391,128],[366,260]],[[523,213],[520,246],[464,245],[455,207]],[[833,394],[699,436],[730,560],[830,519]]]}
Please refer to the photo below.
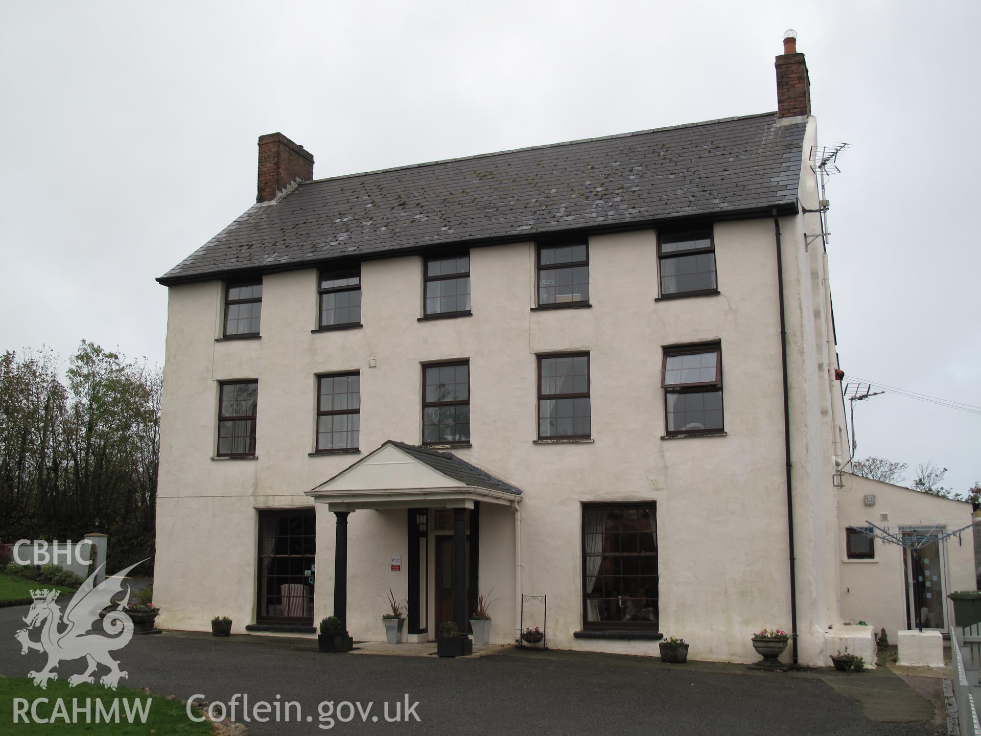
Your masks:
{"label": "large dark ground-floor window right of the porch", "polygon": [[653,501],[584,504],[583,606],[587,627],[657,628]]}

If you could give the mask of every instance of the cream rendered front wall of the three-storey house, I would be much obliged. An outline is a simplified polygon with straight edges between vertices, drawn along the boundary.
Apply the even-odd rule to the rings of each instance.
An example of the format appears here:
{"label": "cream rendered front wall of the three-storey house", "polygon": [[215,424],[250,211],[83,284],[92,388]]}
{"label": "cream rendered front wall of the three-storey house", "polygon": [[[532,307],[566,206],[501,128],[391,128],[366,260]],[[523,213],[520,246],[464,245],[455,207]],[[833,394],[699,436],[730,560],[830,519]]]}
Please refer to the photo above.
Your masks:
{"label": "cream rendered front wall of the three-storey house", "polygon": [[[813,125],[808,140],[813,140]],[[806,149],[807,146],[805,146]],[[806,150],[805,150],[806,155]],[[813,184],[802,177],[805,206]],[[837,623],[831,405],[822,310],[820,242],[804,249],[813,218],[781,218],[792,391],[800,660],[823,660],[823,632]],[[313,504],[303,492],[358,455],[308,456],[314,448],[315,375],[361,374],[361,449],[421,441],[421,362],[468,358],[472,448],[455,450],[525,492],[523,579],[548,596],[553,647],[656,654],[656,643],[579,640],[581,504],[657,503],[660,629],[691,642],[691,657],[751,661],[749,635],[790,630],[780,327],[772,219],[714,228],[720,295],[656,301],[654,231],[590,239],[593,306],[530,311],[532,242],[474,248],[473,316],[418,322],[422,258],[362,265],[360,330],[311,334],[317,271],[268,275],[262,338],[216,342],[222,284],[172,287],[164,379],[156,602],[161,625],[206,629],[228,614],[254,621],[256,508]],[[661,346],[722,344],[725,437],[661,440]],[[534,445],[536,353],[589,350],[592,444]],[[368,359],[377,368],[368,368]],[[257,460],[212,460],[218,381],[259,381]],[[827,436],[827,437],[826,437]],[[334,518],[317,515],[315,618],[332,611]],[[380,598],[406,596],[405,512],[350,517],[348,622],[355,638],[380,639]],[[431,551],[433,545],[431,544]],[[432,553],[432,552],[431,552]],[[432,559],[430,571],[432,575]],[[491,640],[514,638],[514,522],[485,504],[482,591],[499,597]],[[431,586],[432,592],[434,586]],[[433,605],[431,603],[430,610]],[[430,632],[438,622],[430,621]],[[786,656],[785,656],[786,657]]]}

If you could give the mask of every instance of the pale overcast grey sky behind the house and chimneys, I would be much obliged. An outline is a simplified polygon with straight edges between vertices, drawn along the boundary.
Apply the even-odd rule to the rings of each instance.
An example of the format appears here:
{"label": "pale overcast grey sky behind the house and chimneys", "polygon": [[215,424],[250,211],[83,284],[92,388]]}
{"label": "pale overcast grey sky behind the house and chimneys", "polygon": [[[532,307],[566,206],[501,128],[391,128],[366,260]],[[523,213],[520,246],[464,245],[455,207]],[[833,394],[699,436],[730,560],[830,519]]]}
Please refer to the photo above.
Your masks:
{"label": "pale overcast grey sky behind the house and chimneys", "polygon": [[[793,10],[792,10],[793,9]],[[255,200],[256,138],[324,178],[776,109],[806,54],[852,376],[981,406],[977,2],[0,0],[0,349],[163,363],[160,276]],[[858,456],[981,479],[981,415],[898,394]]]}

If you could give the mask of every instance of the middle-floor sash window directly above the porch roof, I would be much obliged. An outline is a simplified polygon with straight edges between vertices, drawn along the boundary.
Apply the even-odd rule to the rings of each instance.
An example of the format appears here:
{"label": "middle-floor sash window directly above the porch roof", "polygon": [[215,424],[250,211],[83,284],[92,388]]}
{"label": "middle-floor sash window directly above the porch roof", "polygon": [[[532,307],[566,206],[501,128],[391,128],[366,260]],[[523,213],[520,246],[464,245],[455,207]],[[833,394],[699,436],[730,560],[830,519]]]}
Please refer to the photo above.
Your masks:
{"label": "middle-floor sash window directly above the porch roof", "polygon": [[423,445],[470,442],[470,363],[423,367]]}

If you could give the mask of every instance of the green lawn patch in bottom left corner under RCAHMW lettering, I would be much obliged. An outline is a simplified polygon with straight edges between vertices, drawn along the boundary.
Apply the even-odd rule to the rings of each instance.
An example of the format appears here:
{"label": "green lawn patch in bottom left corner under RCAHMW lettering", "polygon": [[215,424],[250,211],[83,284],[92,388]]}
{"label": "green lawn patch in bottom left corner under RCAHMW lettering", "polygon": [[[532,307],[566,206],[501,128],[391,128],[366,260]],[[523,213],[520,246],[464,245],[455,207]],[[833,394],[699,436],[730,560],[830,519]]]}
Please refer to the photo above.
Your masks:
{"label": "green lawn patch in bottom left corner under RCAHMW lettering", "polygon": [[[66,675],[67,678],[67,675]],[[36,714],[39,718],[50,719],[52,722],[36,723],[31,719],[25,722],[24,716],[18,716],[18,722],[14,721],[15,698],[24,698],[27,701],[26,714],[29,718],[31,704],[38,698],[47,698],[47,703],[38,704]],[[60,715],[57,710],[58,699],[65,704],[69,720]],[[75,704],[73,704],[73,700]],[[119,709],[119,722],[104,722],[103,712],[112,714],[114,712],[113,701],[119,701],[115,708]],[[96,705],[96,701],[102,702],[101,710]],[[146,704],[149,701],[147,711]],[[139,710],[136,709],[137,702],[142,705],[143,711],[147,712],[146,722],[140,722]],[[84,708],[86,704],[91,713],[86,718]],[[127,718],[127,706],[132,713],[132,721]],[[78,717],[73,720],[73,708],[78,710]],[[188,719],[185,710],[186,704],[183,701],[169,701],[156,695],[147,695],[142,691],[129,690],[121,687],[119,690],[106,690],[98,684],[78,685],[69,687],[66,679],[54,680],[48,683],[47,690],[34,687],[33,683],[27,678],[3,678],[0,677],[0,723],[3,723],[4,733],[24,733],[24,734],[210,734],[211,726],[208,721],[195,723]],[[24,706],[19,711],[23,711]],[[195,712],[197,717],[200,717]],[[98,721],[96,722],[98,716]],[[86,722],[87,720],[87,722]]]}

